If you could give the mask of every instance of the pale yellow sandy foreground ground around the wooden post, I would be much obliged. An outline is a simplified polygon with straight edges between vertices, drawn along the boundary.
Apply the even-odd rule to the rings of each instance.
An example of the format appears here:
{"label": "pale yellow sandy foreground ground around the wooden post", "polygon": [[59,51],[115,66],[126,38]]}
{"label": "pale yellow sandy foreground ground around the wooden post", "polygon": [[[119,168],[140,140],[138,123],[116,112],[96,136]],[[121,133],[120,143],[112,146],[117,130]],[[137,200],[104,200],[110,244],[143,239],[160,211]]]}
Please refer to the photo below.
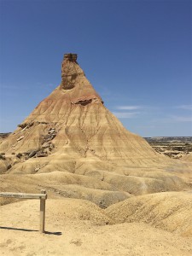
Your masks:
{"label": "pale yellow sandy foreground ground around the wooden post", "polygon": [[39,201],[0,207],[0,254],[35,255],[191,255],[192,238],[149,224],[112,224],[91,202],[47,200],[45,234],[40,234]]}

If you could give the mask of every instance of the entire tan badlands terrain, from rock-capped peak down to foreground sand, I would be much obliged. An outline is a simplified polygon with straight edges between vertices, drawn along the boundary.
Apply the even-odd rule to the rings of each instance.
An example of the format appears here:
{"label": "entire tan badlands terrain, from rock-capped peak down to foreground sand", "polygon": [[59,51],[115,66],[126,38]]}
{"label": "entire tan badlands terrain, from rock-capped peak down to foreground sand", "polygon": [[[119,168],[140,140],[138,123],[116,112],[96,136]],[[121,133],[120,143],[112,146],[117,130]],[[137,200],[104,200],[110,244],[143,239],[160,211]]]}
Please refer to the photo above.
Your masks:
{"label": "entire tan badlands terrain, from rock-capped peak down to foreground sand", "polygon": [[105,108],[77,55],[64,55],[61,84],[0,138],[0,192],[45,189],[46,232],[38,200],[0,197],[0,253],[191,255],[192,153],[172,159],[152,146]]}

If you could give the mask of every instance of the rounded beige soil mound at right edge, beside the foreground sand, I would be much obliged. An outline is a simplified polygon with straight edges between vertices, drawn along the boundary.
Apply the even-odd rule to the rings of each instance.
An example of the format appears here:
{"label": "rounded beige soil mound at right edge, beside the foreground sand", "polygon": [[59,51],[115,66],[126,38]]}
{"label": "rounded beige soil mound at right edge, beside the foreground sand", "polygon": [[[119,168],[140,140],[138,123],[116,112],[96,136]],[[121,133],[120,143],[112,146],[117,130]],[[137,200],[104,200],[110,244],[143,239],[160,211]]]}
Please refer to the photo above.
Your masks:
{"label": "rounded beige soil mound at right edge, beside the foreground sand", "polygon": [[140,222],[192,237],[192,191],[140,195],[105,210],[115,223]]}

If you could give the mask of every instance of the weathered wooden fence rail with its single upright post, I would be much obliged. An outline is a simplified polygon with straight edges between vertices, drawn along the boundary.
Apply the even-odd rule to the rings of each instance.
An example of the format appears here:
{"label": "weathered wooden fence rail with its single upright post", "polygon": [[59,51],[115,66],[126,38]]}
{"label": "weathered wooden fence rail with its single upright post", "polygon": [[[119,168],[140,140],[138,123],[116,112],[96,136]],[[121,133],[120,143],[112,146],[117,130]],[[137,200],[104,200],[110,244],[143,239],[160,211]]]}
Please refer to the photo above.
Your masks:
{"label": "weathered wooden fence rail with its single upright post", "polygon": [[12,192],[2,192],[0,197],[13,197],[20,199],[40,199],[40,229],[41,233],[44,233],[45,224],[45,201],[47,199],[47,194],[45,190],[41,190],[41,194],[26,194],[26,193],[12,193]]}

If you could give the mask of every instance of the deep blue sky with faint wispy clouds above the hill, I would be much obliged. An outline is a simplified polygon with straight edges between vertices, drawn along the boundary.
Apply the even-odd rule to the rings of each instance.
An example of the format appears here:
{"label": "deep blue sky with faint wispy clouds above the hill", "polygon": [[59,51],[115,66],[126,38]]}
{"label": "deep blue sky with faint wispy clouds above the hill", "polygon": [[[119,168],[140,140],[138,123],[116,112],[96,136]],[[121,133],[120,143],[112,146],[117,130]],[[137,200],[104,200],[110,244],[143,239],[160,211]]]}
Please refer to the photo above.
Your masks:
{"label": "deep blue sky with faint wispy clouds above the hill", "polygon": [[143,137],[192,136],[192,2],[0,0],[0,132],[61,82],[64,53]]}

